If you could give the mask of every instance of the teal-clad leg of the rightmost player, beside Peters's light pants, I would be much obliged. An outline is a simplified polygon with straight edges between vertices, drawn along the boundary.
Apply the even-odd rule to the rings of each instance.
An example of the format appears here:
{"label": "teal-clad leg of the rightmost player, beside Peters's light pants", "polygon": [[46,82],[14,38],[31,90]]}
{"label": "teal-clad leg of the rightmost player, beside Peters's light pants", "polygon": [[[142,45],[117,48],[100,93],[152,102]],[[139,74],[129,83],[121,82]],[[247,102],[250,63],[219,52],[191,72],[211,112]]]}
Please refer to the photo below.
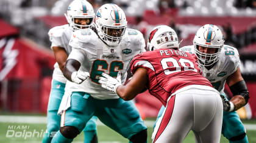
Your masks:
{"label": "teal-clad leg of the rightmost player, beside Peters's light pants", "polygon": [[222,135],[229,139],[230,143],[248,142],[246,129],[236,111],[223,111]]}

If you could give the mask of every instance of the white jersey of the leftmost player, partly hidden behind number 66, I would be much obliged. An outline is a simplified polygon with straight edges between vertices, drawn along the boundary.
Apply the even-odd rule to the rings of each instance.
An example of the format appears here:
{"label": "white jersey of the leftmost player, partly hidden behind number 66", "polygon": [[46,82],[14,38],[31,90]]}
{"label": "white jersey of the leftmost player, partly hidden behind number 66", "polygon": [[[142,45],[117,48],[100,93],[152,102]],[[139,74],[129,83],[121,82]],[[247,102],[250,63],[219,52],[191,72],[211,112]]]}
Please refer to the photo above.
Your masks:
{"label": "white jersey of the leftmost player, partly hidden behind number 66", "polygon": [[[68,24],[62,26],[56,26],[49,30],[48,35],[50,41],[52,42],[52,47],[62,47],[65,48],[66,53],[69,55],[71,52],[71,46],[69,45],[69,40],[71,38],[73,31],[69,28]],[[59,68],[59,64],[56,62],[54,64],[54,72],[52,74],[52,78],[59,81],[66,83],[66,78],[63,76],[62,71]]]}

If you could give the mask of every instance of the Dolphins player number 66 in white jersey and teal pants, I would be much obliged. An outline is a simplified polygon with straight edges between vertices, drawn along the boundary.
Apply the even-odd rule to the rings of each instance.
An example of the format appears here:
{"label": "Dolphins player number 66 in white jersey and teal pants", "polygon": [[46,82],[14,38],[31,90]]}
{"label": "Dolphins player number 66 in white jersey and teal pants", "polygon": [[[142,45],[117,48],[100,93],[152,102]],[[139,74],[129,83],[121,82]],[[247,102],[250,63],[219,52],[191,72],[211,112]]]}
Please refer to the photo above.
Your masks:
{"label": "Dolphins player number 66 in white jersey and teal pants", "polygon": [[[102,5],[95,16],[96,31],[77,30],[69,42],[72,52],[64,67],[69,81],[59,113],[60,131],[53,142],[71,142],[82,131],[91,116],[129,139],[147,142],[147,128],[132,101],[123,101],[116,93],[99,84],[102,73],[118,76],[126,81],[133,56],[144,52],[143,35],[138,30],[126,29],[126,16],[115,4]],[[72,82],[71,82],[72,81]]]}

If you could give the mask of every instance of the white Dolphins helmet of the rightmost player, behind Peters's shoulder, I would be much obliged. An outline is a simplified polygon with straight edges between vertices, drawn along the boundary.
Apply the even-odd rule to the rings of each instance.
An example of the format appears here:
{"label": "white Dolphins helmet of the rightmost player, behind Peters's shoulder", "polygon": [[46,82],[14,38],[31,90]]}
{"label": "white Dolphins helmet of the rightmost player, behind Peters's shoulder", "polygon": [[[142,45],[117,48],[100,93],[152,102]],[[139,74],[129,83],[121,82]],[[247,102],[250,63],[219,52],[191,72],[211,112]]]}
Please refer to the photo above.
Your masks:
{"label": "white Dolphins helmet of the rightmost player, behind Peters's shoulder", "polygon": [[[210,66],[219,60],[219,55],[224,44],[224,36],[222,35],[221,29],[216,25],[206,24],[197,30],[193,44],[199,64]],[[215,48],[215,53],[200,52],[199,46]]]}

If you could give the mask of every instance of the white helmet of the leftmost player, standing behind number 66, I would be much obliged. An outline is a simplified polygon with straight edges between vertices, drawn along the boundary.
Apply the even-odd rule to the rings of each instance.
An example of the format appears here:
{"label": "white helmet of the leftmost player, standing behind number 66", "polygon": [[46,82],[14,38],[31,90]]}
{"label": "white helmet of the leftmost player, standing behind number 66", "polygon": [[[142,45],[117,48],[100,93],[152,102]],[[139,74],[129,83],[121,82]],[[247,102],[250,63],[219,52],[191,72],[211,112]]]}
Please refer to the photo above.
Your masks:
{"label": "white helmet of the leftmost player, standing behind number 66", "polygon": [[[79,30],[82,28],[88,28],[93,25],[94,21],[94,10],[93,6],[85,0],[74,0],[69,4],[68,10],[64,14],[66,16],[66,20],[68,21],[69,26],[75,30]],[[87,25],[77,24],[75,19],[87,19]]]}

